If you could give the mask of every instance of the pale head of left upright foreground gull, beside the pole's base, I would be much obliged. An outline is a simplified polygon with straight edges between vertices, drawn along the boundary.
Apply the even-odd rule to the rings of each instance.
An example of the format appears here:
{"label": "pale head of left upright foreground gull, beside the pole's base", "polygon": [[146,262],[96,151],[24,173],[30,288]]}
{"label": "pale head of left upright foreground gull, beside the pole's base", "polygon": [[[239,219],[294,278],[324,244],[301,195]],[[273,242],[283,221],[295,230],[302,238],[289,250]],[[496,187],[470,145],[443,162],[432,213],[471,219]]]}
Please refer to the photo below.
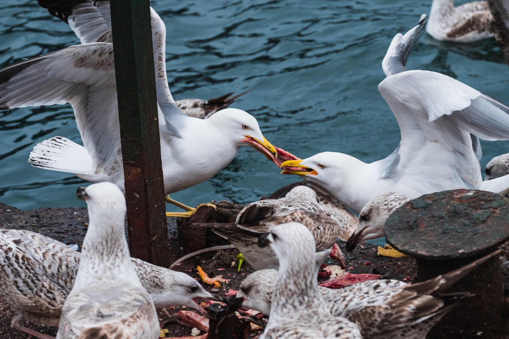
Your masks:
{"label": "pale head of left upright foreground gull, beside the pole's base", "polygon": [[87,203],[90,224],[121,224],[122,228],[124,227],[126,200],[117,185],[100,182],[88,187],[79,187],[76,196]]}

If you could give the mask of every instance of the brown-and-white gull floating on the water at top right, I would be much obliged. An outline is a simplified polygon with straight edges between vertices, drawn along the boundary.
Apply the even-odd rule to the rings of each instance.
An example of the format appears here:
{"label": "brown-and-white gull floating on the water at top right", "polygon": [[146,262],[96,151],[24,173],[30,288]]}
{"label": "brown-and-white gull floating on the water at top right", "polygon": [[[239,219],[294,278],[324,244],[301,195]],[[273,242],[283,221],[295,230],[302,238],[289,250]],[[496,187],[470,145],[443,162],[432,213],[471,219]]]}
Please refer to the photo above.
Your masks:
{"label": "brown-and-white gull floating on the water at top right", "polygon": [[454,7],[454,0],[433,0],[426,31],[437,40],[472,42],[493,37],[493,20],[487,1]]}

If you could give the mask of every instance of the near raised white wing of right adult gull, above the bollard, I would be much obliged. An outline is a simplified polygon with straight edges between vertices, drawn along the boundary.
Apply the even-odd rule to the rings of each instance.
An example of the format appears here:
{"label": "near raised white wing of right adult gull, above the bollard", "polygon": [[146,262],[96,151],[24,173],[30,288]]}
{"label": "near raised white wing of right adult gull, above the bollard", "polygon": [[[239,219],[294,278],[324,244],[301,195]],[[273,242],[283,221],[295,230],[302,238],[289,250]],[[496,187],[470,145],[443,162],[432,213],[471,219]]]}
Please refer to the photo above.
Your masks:
{"label": "near raised white wing of right adult gull, above the bollard", "polygon": [[407,174],[415,178],[407,184],[419,191],[480,186],[470,134],[485,140],[509,139],[507,105],[430,71],[391,75],[378,89],[401,130],[398,154],[382,177]]}

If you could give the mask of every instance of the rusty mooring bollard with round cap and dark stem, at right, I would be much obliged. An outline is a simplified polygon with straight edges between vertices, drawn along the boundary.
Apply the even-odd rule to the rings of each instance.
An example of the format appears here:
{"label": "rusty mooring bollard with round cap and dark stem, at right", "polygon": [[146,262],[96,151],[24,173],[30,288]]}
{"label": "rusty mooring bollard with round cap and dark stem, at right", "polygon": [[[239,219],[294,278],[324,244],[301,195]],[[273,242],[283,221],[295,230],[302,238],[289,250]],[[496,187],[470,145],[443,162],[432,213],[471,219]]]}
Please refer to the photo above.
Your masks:
{"label": "rusty mooring bollard with round cap and dark stem, at right", "polygon": [[[486,191],[426,194],[398,208],[385,223],[387,242],[416,258],[417,278],[428,280],[493,252],[509,238],[509,200]],[[504,338],[506,318],[498,258],[489,259],[445,291],[470,292],[428,339]]]}

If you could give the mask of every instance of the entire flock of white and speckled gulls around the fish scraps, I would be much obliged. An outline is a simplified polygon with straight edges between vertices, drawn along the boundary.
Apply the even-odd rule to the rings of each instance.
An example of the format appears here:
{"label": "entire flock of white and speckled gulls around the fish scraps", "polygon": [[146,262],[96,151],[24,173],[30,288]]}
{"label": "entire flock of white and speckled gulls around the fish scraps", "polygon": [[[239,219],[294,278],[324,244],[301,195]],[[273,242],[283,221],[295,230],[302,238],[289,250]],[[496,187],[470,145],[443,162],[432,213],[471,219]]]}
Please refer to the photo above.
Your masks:
{"label": "entire flock of white and speckled gulls around the fish scraps", "polygon": [[[307,182],[248,204],[235,223],[200,224],[228,239],[258,270],[230,301],[211,295],[186,273],[130,258],[109,2],[38,3],[69,24],[81,44],[1,69],[0,109],[71,103],[83,146],[55,136],[37,144],[29,162],[94,184],[77,191],[90,217],[81,253],[38,233],[0,228],[0,296],[17,313],[12,327],[40,339],[53,337],[21,320],[58,327],[56,338],[62,339],[156,338],[156,308],[184,305],[205,313],[198,298],[227,304],[242,299],[244,307],[270,316],[260,338],[423,339],[473,296],[447,290],[500,255],[492,252],[416,284],[359,278],[334,290],[317,282],[318,267],[331,250],[346,269],[338,238],[348,240],[351,251],[382,237],[389,215],[422,194],[457,188],[509,192],[507,155],[488,163],[485,181],[479,165],[479,138],[509,139],[509,106],[446,75],[405,67],[425,32],[426,15],[392,39],[383,59],[386,78],[378,89],[398,121],[401,142],[368,164],[336,152],[299,159],[275,148],[256,118],[227,108],[246,92],[174,101],[165,26],[151,9],[165,193],[210,179],[242,146],[261,152],[282,174]],[[486,2],[455,8],[453,1],[434,0],[427,31],[440,40],[473,41],[492,35],[492,20]],[[187,210],[167,216],[199,210],[169,196],[166,201]],[[358,220],[349,209],[359,213]],[[501,246],[503,272],[509,272],[508,246]]]}

